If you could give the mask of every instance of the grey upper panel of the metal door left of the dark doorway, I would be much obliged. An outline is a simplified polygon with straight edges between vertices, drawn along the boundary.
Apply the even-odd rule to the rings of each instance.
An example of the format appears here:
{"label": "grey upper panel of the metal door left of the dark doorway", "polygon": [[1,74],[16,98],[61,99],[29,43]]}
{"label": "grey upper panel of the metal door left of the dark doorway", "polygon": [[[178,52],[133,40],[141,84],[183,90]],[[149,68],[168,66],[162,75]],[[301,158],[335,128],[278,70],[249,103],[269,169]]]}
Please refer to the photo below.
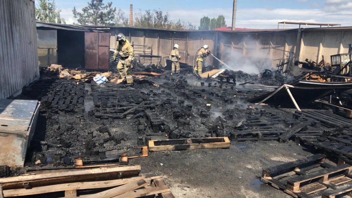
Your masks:
{"label": "grey upper panel of the metal door left of the dark doorway", "polygon": [[38,48],[57,49],[56,30],[37,30]]}

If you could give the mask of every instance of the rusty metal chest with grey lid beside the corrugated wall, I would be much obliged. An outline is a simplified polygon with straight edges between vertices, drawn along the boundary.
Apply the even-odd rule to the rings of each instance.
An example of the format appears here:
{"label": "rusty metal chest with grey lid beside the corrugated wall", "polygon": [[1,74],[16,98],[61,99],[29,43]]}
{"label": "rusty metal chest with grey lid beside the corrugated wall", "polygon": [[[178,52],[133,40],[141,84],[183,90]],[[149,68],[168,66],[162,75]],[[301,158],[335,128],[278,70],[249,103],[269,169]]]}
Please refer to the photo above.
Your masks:
{"label": "rusty metal chest with grey lid beside the corrugated wall", "polygon": [[39,107],[37,100],[0,99],[0,165],[24,166]]}

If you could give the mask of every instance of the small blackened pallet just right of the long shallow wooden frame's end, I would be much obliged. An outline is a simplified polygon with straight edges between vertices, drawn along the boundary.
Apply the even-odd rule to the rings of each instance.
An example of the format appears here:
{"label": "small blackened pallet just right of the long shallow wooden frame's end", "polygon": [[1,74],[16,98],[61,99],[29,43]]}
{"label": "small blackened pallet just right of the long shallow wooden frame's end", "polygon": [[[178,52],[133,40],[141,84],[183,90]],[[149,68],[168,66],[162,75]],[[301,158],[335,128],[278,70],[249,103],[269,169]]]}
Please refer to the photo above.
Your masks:
{"label": "small blackened pallet just right of the long shallow wooden frame's end", "polygon": [[231,132],[232,141],[260,141],[260,140],[278,140],[279,135],[284,131],[275,130],[255,130],[255,131],[237,131]]}

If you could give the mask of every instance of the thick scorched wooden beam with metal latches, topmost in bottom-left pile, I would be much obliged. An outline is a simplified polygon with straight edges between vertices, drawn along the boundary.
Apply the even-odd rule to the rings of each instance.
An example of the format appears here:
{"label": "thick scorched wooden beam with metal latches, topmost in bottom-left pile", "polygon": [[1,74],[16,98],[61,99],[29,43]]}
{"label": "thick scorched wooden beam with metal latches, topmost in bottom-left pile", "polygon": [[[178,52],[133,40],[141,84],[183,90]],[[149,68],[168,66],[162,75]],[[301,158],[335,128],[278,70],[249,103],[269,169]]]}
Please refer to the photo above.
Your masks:
{"label": "thick scorched wooden beam with metal latches, topmost in bottom-left pile", "polygon": [[140,165],[124,167],[101,167],[90,169],[69,169],[66,171],[43,171],[17,177],[1,178],[3,190],[23,188],[23,182],[29,182],[31,187],[63,184],[67,182],[108,180],[111,178],[124,178],[137,176]]}

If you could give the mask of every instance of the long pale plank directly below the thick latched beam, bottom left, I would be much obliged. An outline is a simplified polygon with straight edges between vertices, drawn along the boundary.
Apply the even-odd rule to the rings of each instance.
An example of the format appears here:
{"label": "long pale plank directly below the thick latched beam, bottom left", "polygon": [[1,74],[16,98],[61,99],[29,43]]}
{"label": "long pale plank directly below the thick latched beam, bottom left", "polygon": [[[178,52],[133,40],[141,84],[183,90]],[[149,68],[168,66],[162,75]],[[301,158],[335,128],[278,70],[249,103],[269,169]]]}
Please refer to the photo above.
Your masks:
{"label": "long pale plank directly below the thick latched beam, bottom left", "polygon": [[126,178],[126,179],[115,179],[115,180],[108,180],[108,181],[75,182],[75,183],[68,183],[68,184],[33,187],[31,189],[24,189],[24,188],[11,189],[11,190],[4,190],[4,195],[6,197],[17,197],[17,196],[28,196],[33,194],[43,194],[43,193],[49,193],[49,192],[59,192],[59,191],[68,191],[68,190],[88,190],[88,189],[120,186],[131,182],[139,181],[140,179],[151,180],[151,179],[158,179],[158,178],[162,178],[162,175],[147,174],[147,175],[141,175],[138,177],[132,177],[132,178]]}

